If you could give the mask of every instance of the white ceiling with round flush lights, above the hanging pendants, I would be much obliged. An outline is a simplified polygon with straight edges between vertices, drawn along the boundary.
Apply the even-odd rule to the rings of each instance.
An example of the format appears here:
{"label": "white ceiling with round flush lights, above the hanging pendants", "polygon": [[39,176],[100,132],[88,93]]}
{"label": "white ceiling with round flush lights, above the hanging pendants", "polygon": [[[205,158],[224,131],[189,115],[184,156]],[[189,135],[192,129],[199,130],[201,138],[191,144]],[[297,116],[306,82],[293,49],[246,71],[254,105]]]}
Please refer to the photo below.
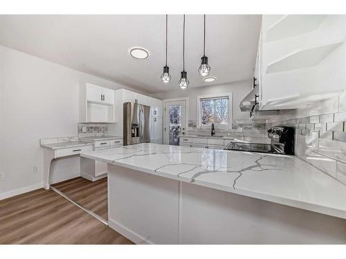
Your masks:
{"label": "white ceiling with round flush lights, above the hanging pendants", "polygon": [[[203,15],[186,15],[185,70],[190,87],[251,79],[260,15],[207,15],[206,56],[210,75],[199,76]],[[183,15],[168,16],[170,84],[160,76],[165,62],[165,15],[0,15],[0,44],[147,93],[177,89],[183,67]],[[149,58],[129,55],[132,47]]]}

